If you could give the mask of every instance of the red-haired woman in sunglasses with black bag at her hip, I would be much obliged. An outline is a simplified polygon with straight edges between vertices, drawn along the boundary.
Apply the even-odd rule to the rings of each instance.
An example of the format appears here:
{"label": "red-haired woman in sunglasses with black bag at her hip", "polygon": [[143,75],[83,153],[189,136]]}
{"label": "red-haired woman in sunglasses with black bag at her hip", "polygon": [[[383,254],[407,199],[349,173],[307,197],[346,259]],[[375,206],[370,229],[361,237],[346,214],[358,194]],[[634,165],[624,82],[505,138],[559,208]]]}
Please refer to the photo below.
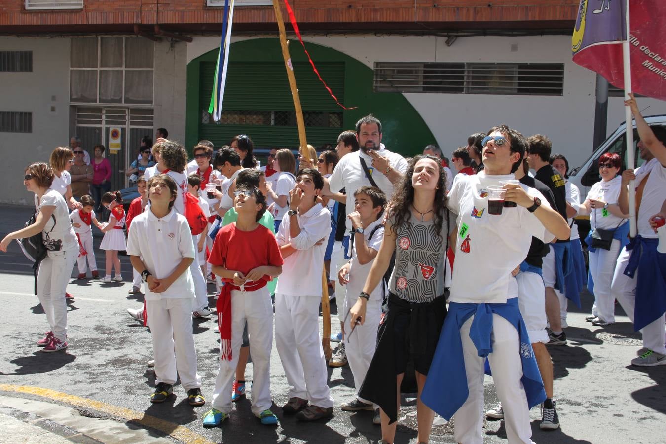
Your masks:
{"label": "red-haired woman in sunglasses with black bag at her hip", "polygon": [[[590,232],[585,238],[589,253],[589,274],[587,290],[594,295],[592,314],[585,320],[595,326],[607,326],[615,323],[615,300],[611,298],[611,282],[615,262],[620,250],[629,242],[629,215],[623,214],[617,205],[622,182],[617,175],[622,166],[620,156],[607,152],[599,158],[601,180],[595,183],[578,214],[591,214]],[[591,234],[596,229],[613,231],[613,241],[609,250],[594,248]]]}

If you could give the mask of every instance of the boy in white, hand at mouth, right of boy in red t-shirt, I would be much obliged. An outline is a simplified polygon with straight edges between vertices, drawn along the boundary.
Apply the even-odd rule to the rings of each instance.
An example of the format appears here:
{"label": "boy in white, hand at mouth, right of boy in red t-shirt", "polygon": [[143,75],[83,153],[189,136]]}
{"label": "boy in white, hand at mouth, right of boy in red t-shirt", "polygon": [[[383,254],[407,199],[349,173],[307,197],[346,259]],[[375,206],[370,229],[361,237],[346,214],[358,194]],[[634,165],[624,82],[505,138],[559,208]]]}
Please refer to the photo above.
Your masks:
{"label": "boy in white, hand at mouth, right of boy in red t-shirt", "polygon": [[316,169],[298,172],[296,187],[289,193],[290,210],[276,236],[284,265],[275,289],[275,343],[290,385],[282,411],[298,413],[301,421],[333,413],[318,321],[326,244],[317,243],[331,230],[330,212],[316,202],[323,186]]}

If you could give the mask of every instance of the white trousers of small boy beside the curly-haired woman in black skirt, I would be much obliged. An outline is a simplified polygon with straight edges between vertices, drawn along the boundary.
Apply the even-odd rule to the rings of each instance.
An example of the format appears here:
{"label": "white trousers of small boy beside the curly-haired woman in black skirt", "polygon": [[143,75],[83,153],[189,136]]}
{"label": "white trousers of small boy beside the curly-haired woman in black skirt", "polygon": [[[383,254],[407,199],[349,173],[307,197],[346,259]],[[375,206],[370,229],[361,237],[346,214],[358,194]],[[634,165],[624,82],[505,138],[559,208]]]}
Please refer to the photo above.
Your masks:
{"label": "white trousers of small boy beside the curly-haired woman in black skirt", "polygon": [[[350,308],[356,304],[358,296],[348,296],[344,298],[343,313],[346,316]],[[382,318],[382,300],[374,298],[369,300],[366,304],[366,320],[363,325],[358,325],[354,328],[352,333],[352,316],[347,317],[347,322],[344,324],[344,349],[347,353],[347,360],[349,367],[352,369],[354,376],[354,387],[356,393],[361,389],[363,380],[366,379],[370,361],[374,356],[375,349],[377,348],[377,330],[379,322]],[[366,399],[358,397],[364,403],[369,403]]]}

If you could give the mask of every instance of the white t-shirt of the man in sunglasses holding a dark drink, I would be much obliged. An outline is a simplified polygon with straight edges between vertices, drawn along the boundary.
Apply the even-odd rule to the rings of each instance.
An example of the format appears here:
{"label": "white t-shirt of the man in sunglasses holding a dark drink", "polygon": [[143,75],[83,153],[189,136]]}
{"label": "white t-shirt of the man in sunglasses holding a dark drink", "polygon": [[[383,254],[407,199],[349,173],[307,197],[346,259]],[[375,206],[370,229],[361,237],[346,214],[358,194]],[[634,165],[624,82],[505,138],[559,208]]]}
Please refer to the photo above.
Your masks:
{"label": "white t-shirt of the man in sunglasses holding a dark drink", "polygon": [[[512,179],[513,174],[487,176],[481,171],[456,180],[448,196],[449,209],[458,214],[450,302],[505,304],[507,299],[517,298],[517,286],[509,286],[509,279],[525,260],[532,236],[545,243],[553,240],[554,236],[523,206],[503,208],[502,214],[488,213],[486,187]],[[521,186],[550,208],[540,192]]]}

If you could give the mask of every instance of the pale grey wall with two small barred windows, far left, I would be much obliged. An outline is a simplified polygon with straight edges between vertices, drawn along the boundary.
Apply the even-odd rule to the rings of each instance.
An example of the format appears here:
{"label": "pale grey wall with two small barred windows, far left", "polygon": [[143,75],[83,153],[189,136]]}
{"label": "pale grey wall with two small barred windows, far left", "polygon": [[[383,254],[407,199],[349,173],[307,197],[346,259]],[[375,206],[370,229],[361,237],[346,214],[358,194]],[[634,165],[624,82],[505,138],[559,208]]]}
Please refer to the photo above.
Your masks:
{"label": "pale grey wall with two small barred windows, far left", "polygon": [[33,113],[33,132],[0,132],[0,202],[32,204],[25,166],[69,145],[69,39],[0,37],[0,48],[33,51],[33,72],[0,73],[0,111]]}

